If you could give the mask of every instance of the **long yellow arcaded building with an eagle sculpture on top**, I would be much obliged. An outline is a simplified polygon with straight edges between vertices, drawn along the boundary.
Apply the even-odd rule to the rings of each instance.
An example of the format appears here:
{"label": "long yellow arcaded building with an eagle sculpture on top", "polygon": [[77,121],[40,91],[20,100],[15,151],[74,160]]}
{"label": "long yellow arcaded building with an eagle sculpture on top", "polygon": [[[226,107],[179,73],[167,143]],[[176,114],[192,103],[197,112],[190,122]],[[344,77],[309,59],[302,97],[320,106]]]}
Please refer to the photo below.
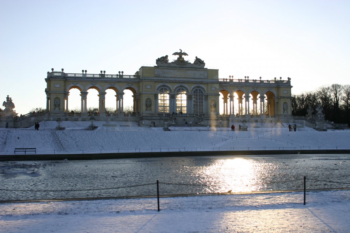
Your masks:
{"label": "long yellow arcaded building with an eagle sculpture on top", "polygon": [[[141,126],[152,122],[182,121],[202,125],[229,125],[231,122],[289,122],[292,119],[290,78],[261,80],[244,77],[220,78],[216,69],[205,68],[200,58],[186,60],[185,52],[173,53],[156,59],[155,66],[141,66],[134,75],[47,72],[45,119],[60,117],[67,121],[89,121],[88,90],[98,91],[99,114],[96,121],[136,121]],[[188,56],[190,57],[190,56]],[[69,110],[69,93],[80,91],[81,113]],[[114,114],[106,114],[106,90],[116,97]],[[133,114],[124,114],[124,90],[133,93]],[[220,114],[219,106],[223,106]],[[174,112],[174,114],[173,114]]]}

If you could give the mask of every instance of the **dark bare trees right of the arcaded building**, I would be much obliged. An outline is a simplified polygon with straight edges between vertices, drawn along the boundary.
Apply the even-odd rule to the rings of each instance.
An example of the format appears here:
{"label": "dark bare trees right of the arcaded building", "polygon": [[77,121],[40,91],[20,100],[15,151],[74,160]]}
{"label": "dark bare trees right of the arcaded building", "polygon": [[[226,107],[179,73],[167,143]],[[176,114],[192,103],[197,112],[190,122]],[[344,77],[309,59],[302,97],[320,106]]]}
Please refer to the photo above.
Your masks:
{"label": "dark bare trees right of the arcaded building", "polygon": [[321,103],[325,119],[350,124],[349,84],[321,86],[315,91],[292,95],[292,115],[305,116],[308,107],[311,106],[315,111],[318,103]]}

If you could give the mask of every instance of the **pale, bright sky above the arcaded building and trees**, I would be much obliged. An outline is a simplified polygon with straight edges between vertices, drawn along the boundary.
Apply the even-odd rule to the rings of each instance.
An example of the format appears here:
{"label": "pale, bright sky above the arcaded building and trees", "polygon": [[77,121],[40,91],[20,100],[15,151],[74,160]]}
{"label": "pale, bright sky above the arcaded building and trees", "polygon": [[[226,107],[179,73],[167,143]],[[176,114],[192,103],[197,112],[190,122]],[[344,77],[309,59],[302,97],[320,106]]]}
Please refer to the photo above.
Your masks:
{"label": "pale, bright sky above the arcaded building and trees", "polygon": [[51,68],[134,74],[179,49],[219,78],[290,77],[292,94],[349,84],[349,12],[350,1],[0,0],[0,101],[26,114],[46,107]]}

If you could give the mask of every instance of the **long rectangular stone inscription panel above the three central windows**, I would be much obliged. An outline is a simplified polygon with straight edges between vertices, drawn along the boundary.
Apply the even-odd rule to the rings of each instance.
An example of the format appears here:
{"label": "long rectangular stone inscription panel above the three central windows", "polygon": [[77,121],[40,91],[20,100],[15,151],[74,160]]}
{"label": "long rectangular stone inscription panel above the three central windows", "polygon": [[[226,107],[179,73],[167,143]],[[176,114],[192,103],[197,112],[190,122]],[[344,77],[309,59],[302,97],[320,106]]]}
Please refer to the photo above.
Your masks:
{"label": "long rectangular stone inscription panel above the three central windows", "polygon": [[155,69],[154,76],[155,77],[208,79],[208,71]]}

